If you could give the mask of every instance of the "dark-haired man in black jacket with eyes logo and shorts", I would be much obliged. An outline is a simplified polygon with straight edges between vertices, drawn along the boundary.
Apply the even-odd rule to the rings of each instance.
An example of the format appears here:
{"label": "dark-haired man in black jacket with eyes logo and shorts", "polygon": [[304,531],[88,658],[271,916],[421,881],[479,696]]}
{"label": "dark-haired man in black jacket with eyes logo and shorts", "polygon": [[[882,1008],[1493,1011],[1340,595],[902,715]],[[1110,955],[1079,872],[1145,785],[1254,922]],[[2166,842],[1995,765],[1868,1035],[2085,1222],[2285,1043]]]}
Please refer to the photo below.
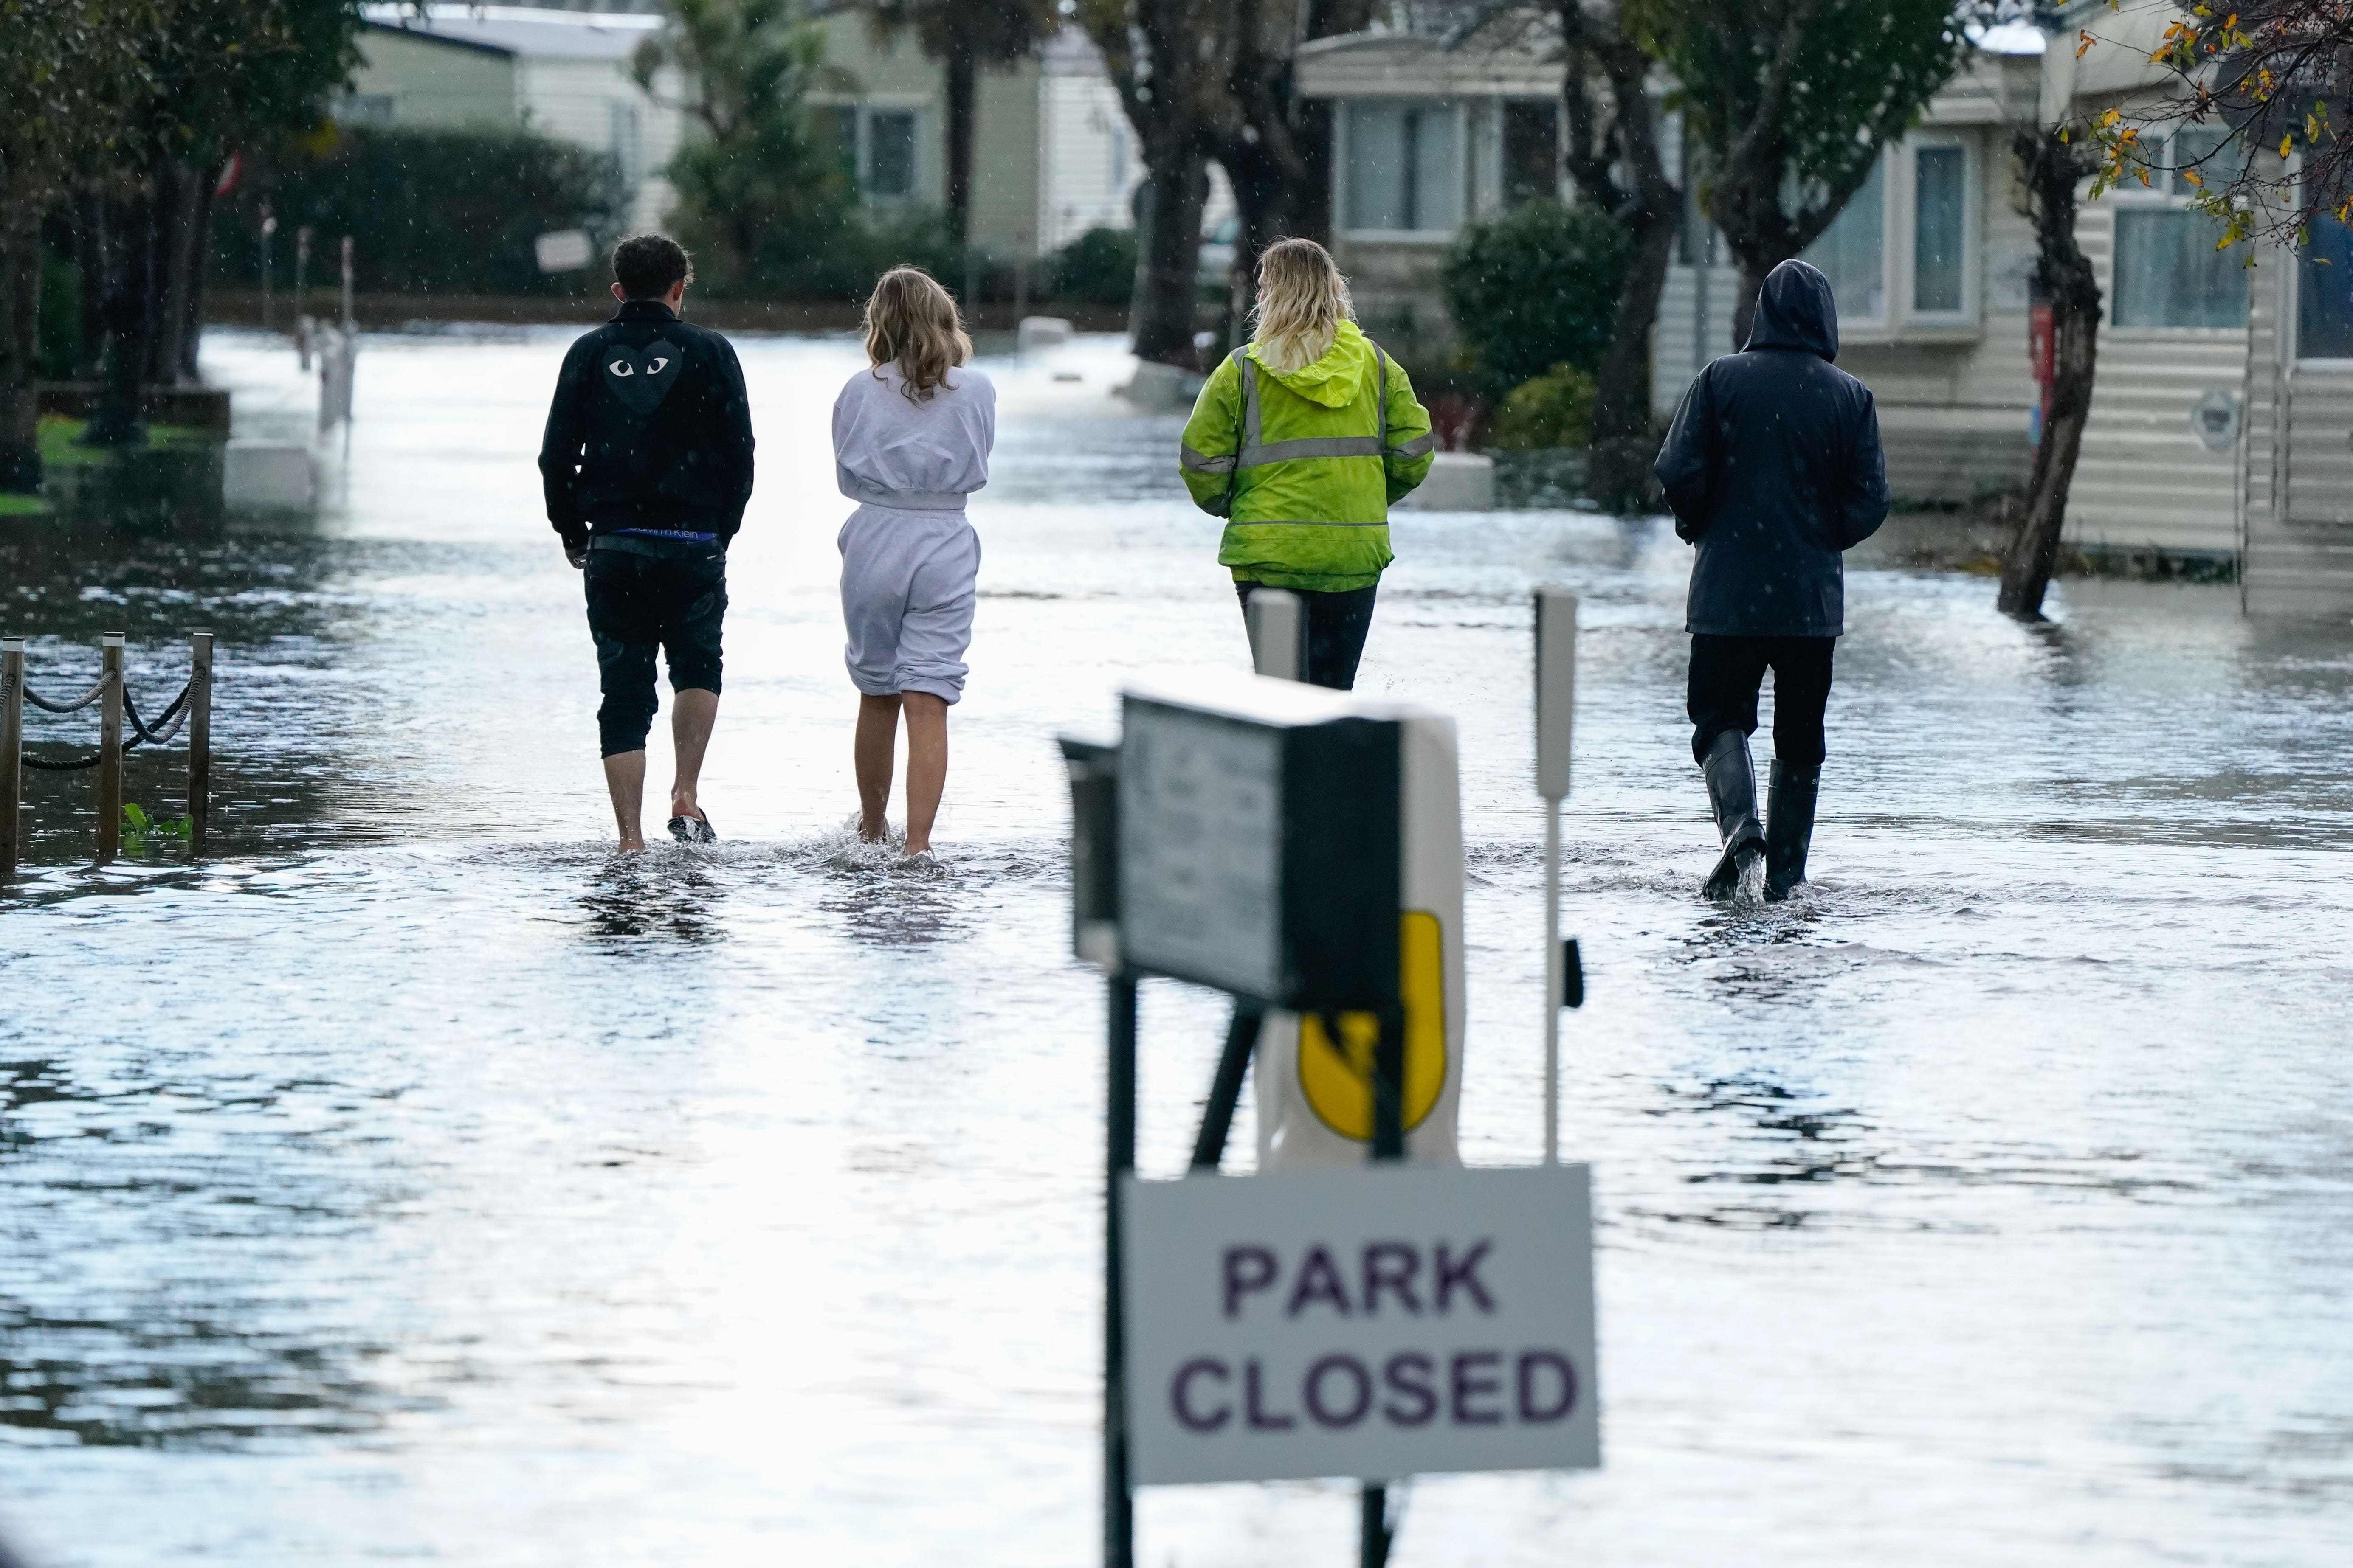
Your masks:
{"label": "dark-haired man in black jacket with eyes logo and shorts", "polygon": [[565,355],[539,444],[548,522],[588,585],[605,705],[598,733],[621,849],[645,849],[645,736],[654,649],[671,661],[671,837],[718,835],[696,799],[720,712],[727,541],[751,501],[744,367],[715,331],[678,320],[692,268],[664,235],[612,254],[621,310]]}

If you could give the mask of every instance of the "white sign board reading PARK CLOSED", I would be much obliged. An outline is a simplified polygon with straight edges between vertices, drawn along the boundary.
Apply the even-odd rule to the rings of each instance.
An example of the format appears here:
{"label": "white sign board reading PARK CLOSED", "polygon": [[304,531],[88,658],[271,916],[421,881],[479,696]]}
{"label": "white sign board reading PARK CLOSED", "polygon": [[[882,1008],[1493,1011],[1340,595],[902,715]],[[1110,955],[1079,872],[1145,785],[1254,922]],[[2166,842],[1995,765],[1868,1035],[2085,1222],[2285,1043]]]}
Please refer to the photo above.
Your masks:
{"label": "white sign board reading PARK CLOSED", "polygon": [[1584,1166],[1127,1178],[1136,1486],[1600,1465]]}

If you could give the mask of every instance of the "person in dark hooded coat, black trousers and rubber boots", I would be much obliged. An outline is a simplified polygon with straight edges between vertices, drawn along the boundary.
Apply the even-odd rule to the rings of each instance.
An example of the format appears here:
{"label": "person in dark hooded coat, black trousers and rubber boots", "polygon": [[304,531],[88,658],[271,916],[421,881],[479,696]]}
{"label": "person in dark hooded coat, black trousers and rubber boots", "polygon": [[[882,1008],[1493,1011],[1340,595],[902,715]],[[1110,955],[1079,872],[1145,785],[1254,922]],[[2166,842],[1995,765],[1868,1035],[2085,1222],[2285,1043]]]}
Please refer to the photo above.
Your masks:
{"label": "person in dark hooded coat, black trousers and rubber boots", "polygon": [[[1758,294],[1748,346],[1715,360],[1675,409],[1659,484],[1675,534],[1699,545],[1692,632],[1692,757],[1725,853],[1708,898],[1765,860],[1765,896],[1805,882],[1821,785],[1831,649],[1845,635],[1847,569],[1887,517],[1887,461],[1871,388],[1835,369],[1831,280],[1784,261]],[[1758,686],[1774,675],[1772,811],[1758,827]]]}

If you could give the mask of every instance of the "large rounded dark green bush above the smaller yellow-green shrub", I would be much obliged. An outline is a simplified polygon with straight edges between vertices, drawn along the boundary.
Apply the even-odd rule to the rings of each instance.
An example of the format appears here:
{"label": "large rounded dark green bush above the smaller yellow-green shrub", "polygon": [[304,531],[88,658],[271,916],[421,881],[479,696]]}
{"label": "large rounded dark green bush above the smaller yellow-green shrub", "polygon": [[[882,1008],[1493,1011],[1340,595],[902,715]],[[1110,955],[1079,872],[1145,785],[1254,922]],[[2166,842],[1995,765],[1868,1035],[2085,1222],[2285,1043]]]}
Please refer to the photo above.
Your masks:
{"label": "large rounded dark green bush above the smaller yellow-green shrub", "polygon": [[1464,228],[1445,266],[1447,310],[1471,367],[1501,390],[1555,364],[1593,369],[1609,346],[1624,270],[1607,216],[1527,202]]}

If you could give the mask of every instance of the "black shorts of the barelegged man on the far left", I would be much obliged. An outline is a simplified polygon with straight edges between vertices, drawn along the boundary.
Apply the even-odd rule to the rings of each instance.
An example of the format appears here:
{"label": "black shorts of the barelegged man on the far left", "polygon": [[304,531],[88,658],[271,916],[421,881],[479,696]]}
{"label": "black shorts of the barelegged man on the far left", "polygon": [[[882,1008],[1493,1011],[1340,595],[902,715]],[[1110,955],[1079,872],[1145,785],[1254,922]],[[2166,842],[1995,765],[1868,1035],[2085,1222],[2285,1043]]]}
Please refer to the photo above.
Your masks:
{"label": "black shorts of the barelegged man on the far left", "polygon": [[727,618],[727,555],[654,557],[593,548],[588,635],[605,705],[598,741],[605,755],[645,750],[654,726],[654,649],[671,661],[671,691],[720,689],[720,621]]}

